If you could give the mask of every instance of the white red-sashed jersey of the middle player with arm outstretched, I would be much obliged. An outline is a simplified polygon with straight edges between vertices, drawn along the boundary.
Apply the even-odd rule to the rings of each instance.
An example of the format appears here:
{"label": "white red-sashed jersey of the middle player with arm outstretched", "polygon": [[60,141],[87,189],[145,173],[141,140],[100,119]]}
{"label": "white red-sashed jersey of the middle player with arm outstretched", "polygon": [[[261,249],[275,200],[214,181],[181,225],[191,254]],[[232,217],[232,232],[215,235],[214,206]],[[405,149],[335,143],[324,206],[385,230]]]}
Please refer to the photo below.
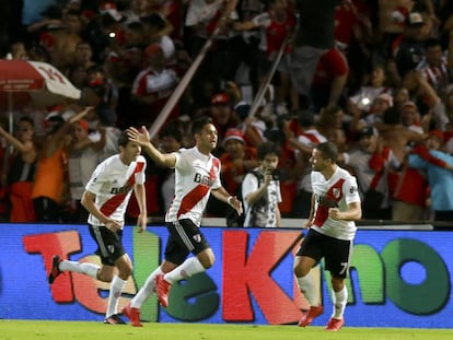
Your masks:
{"label": "white red-sashed jersey of the middle player with arm outstretched", "polygon": [[189,219],[199,226],[211,189],[221,187],[220,160],[200,153],[196,146],[181,149],[174,154],[175,197],[165,222]]}

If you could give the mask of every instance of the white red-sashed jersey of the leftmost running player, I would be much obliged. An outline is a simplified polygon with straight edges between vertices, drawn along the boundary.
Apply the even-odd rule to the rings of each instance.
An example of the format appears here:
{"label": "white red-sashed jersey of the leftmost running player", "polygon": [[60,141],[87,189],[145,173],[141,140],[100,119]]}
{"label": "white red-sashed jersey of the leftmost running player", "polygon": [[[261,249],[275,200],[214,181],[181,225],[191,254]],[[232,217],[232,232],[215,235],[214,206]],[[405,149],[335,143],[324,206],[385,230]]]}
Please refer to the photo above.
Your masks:
{"label": "white red-sashed jersey of the leftmost running player", "polygon": [[[85,190],[96,195],[95,204],[106,216],[124,224],[127,204],[135,184],[144,184],[147,161],[138,156],[137,161],[126,165],[119,155],[113,155],[97,165]],[[88,222],[104,225],[90,214]]]}

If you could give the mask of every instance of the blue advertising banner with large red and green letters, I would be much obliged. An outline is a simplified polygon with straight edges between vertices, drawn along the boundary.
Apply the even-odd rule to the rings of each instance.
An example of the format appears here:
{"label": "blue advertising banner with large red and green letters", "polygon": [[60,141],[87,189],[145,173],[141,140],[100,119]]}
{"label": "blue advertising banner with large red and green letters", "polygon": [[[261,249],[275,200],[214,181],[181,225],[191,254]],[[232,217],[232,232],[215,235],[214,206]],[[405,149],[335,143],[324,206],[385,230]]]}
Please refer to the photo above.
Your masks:
{"label": "blue advertising banner with large red and green letters", "polygon": [[[174,284],[170,306],[155,296],[141,316],[159,323],[295,324],[306,302],[292,274],[301,230],[202,227],[217,261],[206,273]],[[85,225],[3,224],[0,230],[0,318],[102,320],[108,283],[65,273],[53,285],[47,272],[55,254],[100,263]],[[131,278],[120,298],[126,305],[162,259],[167,233],[125,227],[132,258]],[[348,326],[451,328],[453,232],[359,231],[345,318]],[[313,270],[330,317],[329,274]]]}

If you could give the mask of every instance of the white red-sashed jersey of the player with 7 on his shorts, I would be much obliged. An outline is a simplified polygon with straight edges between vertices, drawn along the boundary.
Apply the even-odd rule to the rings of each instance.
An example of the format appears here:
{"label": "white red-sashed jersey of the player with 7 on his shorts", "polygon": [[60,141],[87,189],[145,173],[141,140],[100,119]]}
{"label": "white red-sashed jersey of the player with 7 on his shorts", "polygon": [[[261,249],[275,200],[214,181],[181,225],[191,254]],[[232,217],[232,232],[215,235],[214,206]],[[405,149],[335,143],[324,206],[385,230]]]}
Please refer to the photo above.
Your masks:
{"label": "white red-sashed jersey of the player with 7 on his shorts", "polygon": [[353,239],[356,223],[330,219],[328,209],[338,208],[339,211],[346,211],[349,203],[360,202],[356,177],[339,166],[328,180],[320,172],[312,172],[312,187],[315,195],[312,228],[335,238]]}

